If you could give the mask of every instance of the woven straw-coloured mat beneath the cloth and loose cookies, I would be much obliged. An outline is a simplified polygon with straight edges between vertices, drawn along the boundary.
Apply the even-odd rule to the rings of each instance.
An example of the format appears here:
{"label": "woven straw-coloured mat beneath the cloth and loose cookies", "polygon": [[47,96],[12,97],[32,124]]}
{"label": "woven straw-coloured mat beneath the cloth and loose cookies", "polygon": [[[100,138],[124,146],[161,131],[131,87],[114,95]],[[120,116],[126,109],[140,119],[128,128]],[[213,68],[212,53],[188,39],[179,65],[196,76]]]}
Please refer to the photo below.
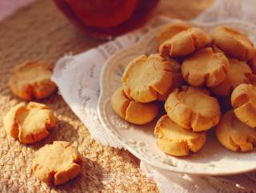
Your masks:
{"label": "woven straw-coloured mat beneath the cloth and loose cookies", "polygon": [[[162,1],[165,13],[191,18],[212,1]],[[166,5],[170,10],[166,9]],[[6,136],[2,118],[21,100],[7,86],[14,65],[27,59],[51,63],[64,53],[80,53],[103,41],[86,36],[62,16],[50,0],[34,2],[0,22],[0,192],[153,192],[156,184],[146,179],[139,160],[125,150],[104,147],[90,138],[86,127],[71,112],[62,97],[55,93],[41,100],[54,109],[58,125],[46,140],[23,145]],[[59,187],[48,187],[32,173],[34,152],[54,140],[70,141],[84,157],[82,174]]]}

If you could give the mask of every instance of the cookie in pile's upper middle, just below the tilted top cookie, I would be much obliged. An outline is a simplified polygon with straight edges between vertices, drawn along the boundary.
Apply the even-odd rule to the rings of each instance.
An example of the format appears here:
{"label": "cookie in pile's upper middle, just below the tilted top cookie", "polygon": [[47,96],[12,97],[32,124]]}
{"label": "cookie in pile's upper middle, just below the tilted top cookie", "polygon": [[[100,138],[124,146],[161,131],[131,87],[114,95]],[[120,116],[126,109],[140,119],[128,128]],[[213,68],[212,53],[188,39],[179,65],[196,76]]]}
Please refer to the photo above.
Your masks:
{"label": "cookie in pile's upper middle, just below the tilted top cookie", "polygon": [[192,86],[213,87],[224,81],[229,61],[223,53],[205,48],[187,57],[182,63],[182,76]]}

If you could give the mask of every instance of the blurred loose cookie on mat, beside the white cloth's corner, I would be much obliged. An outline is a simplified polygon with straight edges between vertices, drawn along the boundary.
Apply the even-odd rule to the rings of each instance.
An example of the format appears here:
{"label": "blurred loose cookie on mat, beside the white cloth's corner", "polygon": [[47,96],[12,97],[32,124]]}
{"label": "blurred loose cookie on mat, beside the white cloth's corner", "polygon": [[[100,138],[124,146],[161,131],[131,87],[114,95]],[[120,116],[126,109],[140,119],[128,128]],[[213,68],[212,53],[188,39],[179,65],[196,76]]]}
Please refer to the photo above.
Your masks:
{"label": "blurred loose cookie on mat, beside the white cloth's corner", "polygon": [[9,87],[15,96],[24,100],[42,99],[56,89],[50,77],[49,65],[42,61],[26,61],[14,69]]}

